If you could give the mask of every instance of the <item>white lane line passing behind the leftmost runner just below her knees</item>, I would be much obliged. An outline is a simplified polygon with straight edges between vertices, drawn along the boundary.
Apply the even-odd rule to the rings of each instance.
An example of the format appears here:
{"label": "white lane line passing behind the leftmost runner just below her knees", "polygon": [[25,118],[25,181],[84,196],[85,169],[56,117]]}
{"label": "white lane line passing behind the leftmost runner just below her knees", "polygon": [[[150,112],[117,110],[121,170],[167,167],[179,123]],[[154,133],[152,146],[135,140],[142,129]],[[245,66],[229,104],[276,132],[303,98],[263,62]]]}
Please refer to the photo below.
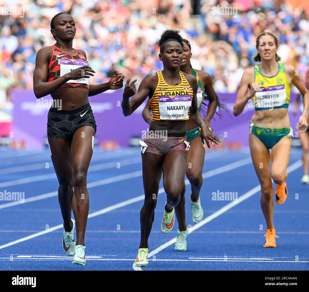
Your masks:
{"label": "white lane line passing behind the leftmost runner just below her knees", "polygon": [[[129,172],[129,173],[126,173],[126,174],[122,174],[120,176],[113,176],[113,177],[110,177],[110,178],[107,178],[107,179],[104,179],[104,180],[94,181],[94,182],[87,184],[87,188],[93,188],[93,187],[104,185],[104,184],[111,184],[111,183],[114,183],[114,182],[117,182],[117,181],[127,180],[127,179],[135,178],[135,177],[138,177],[138,176],[142,176],[141,170]],[[1,204],[0,209],[8,208],[8,207],[11,207],[11,206],[16,206],[16,205],[20,205],[20,204],[24,204],[24,203],[34,202],[34,201],[38,201],[38,200],[43,200],[43,199],[55,197],[55,196],[58,196],[58,191],[45,193],[45,194],[38,195],[38,196],[35,196],[35,197],[30,197],[28,199],[25,199],[25,201],[23,203],[21,203],[20,201],[14,201],[14,202],[10,202],[10,203]]]}

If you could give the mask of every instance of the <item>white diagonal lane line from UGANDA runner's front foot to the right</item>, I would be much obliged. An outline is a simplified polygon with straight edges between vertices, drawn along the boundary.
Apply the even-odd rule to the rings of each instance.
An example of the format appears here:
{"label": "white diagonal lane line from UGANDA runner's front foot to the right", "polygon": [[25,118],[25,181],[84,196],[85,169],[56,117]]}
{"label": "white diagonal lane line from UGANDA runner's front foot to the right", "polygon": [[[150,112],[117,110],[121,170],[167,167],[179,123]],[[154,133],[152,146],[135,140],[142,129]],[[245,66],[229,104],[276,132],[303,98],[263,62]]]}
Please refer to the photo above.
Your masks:
{"label": "white diagonal lane line from UGANDA runner's front foot to the right", "polygon": [[[301,160],[296,161],[295,163],[293,163],[292,165],[290,165],[287,168],[287,172],[290,173],[294,170],[296,170],[297,168],[301,167],[303,165],[303,162]],[[206,223],[210,222],[211,220],[213,220],[214,218],[217,218],[218,216],[220,216],[221,214],[225,213],[226,211],[228,211],[229,209],[237,206],[238,204],[240,204],[242,201],[250,198],[251,196],[253,196],[254,194],[256,194],[258,191],[260,191],[261,186],[260,184],[257,185],[256,187],[252,188],[250,191],[248,191],[247,193],[243,194],[242,196],[238,197],[237,201],[233,201],[228,203],[227,205],[225,205],[224,207],[222,207],[221,209],[219,209],[218,211],[214,212],[213,214],[211,214],[210,216],[206,217],[205,219],[203,219],[201,222],[198,222],[197,224],[193,225],[191,228],[189,228],[189,234],[192,233],[193,231],[197,230],[198,228],[200,228],[201,226],[205,225]],[[161,246],[159,246],[158,248],[156,248],[154,251],[150,252],[148,254],[148,257],[153,256],[155,254],[157,254],[158,252],[161,252],[164,248],[167,248],[168,246],[170,246],[171,244],[176,242],[176,237],[174,237],[173,239],[169,240],[167,243],[162,244]]]}

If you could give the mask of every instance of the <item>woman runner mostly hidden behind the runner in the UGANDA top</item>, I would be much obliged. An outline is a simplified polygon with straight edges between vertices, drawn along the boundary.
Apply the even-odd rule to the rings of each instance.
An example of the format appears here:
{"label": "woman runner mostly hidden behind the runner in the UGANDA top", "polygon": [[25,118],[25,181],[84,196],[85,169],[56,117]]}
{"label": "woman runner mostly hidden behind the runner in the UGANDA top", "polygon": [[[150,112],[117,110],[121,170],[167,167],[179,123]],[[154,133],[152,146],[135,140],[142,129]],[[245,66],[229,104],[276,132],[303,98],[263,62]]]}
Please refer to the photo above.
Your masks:
{"label": "woman runner mostly hidden behind the runner in the UGANDA top", "polygon": [[[213,129],[210,126],[210,121],[216,112],[217,106],[219,109],[222,105],[219,102],[218,96],[216,95],[214,88],[212,86],[212,80],[208,73],[193,69],[191,66],[190,58],[191,45],[188,40],[182,39],[183,43],[183,60],[180,65],[180,70],[188,75],[193,75],[197,79],[198,89],[197,89],[197,105],[198,110],[201,111],[202,103],[204,100],[205,92],[207,94],[207,99],[209,99],[208,110],[206,117],[204,119],[205,124],[208,129],[213,133]],[[150,124],[152,120],[151,116],[151,102],[147,101],[145,108],[142,112],[144,120]],[[187,141],[190,142],[190,151],[186,155],[186,175],[191,184],[190,192],[190,205],[191,205],[191,217],[194,223],[198,223],[203,218],[203,209],[201,207],[200,200],[200,190],[203,184],[203,165],[205,159],[205,146],[201,142],[201,131],[200,128],[192,121],[192,119],[187,120]],[[185,194],[186,185],[183,185],[181,191],[181,199],[179,204],[175,207],[176,216],[178,220],[178,231],[177,239],[175,243],[175,250],[185,251],[187,249],[187,235],[188,227],[186,224],[186,214],[185,214]]]}

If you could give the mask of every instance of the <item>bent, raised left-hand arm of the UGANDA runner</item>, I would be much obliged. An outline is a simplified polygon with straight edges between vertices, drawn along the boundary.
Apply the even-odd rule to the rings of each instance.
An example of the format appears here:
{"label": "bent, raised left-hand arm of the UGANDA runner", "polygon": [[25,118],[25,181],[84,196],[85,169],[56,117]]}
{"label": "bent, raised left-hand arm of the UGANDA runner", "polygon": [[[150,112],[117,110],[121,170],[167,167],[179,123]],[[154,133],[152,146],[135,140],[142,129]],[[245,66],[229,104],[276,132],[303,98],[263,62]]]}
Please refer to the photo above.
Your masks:
{"label": "bent, raised left-hand arm of the UGANDA runner", "polygon": [[[129,83],[131,81],[131,78],[128,79],[127,83],[125,84],[125,90],[123,91],[121,103],[121,108],[124,116],[131,115],[147,98],[150,92],[150,84],[152,77],[152,74],[148,74],[142,80],[137,92],[134,84],[137,79],[133,80],[131,83]],[[133,97],[131,98],[131,100],[129,100],[131,96]]]}

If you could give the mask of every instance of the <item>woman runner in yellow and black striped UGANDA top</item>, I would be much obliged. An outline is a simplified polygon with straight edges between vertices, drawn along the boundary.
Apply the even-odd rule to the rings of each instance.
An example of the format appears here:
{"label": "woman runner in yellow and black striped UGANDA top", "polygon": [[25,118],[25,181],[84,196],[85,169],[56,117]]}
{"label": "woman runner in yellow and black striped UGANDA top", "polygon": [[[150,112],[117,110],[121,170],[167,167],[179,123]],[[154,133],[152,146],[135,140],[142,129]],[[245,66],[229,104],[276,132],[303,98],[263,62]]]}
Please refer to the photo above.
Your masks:
{"label": "woman runner in yellow and black striped UGANDA top", "polygon": [[[140,213],[141,242],[135,265],[148,265],[148,237],[154,221],[159,183],[163,173],[163,186],[167,194],[161,231],[168,233],[174,226],[174,207],[180,201],[184,184],[186,151],[186,121],[189,116],[201,127],[201,138],[218,144],[205,125],[197,106],[197,79],[180,71],[183,59],[183,44],[179,32],[167,30],[157,42],[160,47],[159,59],[163,70],[148,74],[141,82],[138,92],[130,79],[127,81],[121,104],[125,116],[134,112],[149,96],[152,121],[149,132],[141,141],[142,172],[145,201]],[[133,96],[131,100],[129,97]],[[203,141],[204,142],[204,141]]]}

